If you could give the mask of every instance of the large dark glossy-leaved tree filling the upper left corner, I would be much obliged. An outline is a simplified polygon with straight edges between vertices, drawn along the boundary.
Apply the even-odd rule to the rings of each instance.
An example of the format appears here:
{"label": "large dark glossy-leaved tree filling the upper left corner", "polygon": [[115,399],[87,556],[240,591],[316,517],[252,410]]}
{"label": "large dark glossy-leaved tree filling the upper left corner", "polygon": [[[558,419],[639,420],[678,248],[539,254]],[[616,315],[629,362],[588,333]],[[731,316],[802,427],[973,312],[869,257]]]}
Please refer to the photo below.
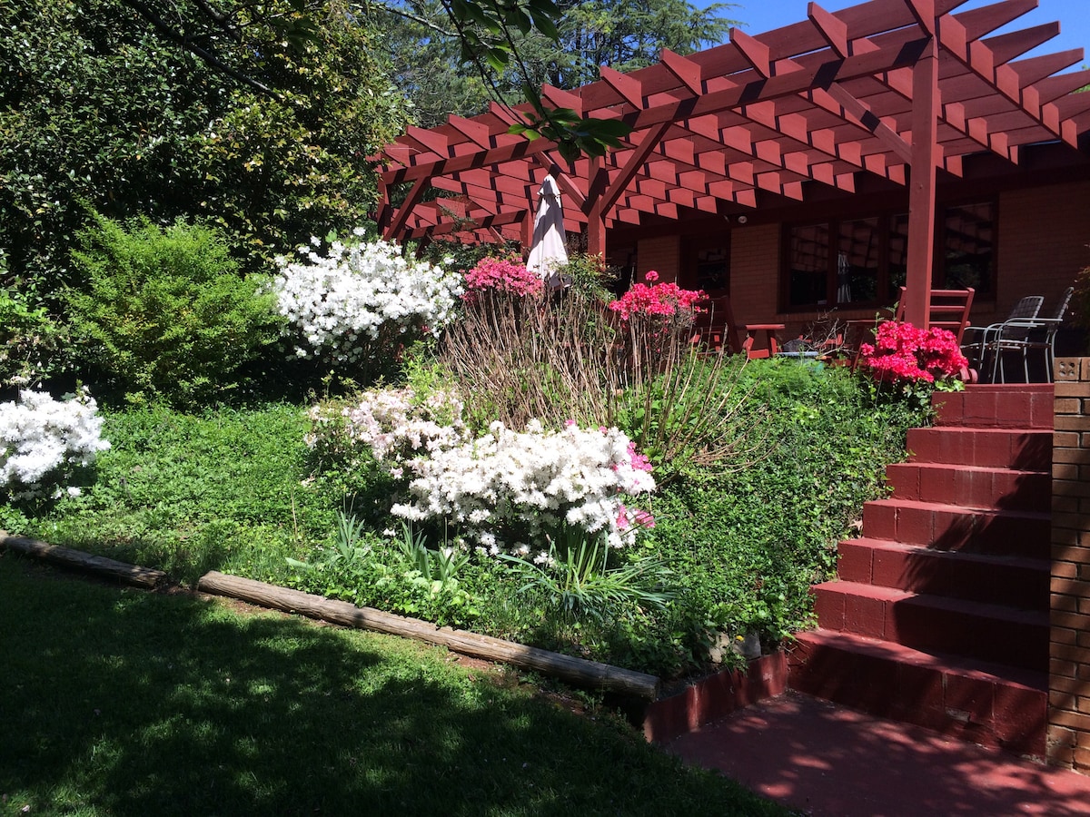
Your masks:
{"label": "large dark glossy-leaved tree filling the upper left corner", "polygon": [[210,61],[122,0],[0,4],[0,286],[48,300],[71,279],[81,202],[207,219],[251,270],[374,207],[366,157],[405,120],[379,34],[336,0],[271,0],[261,21],[228,0],[218,27],[206,5],[168,16]]}

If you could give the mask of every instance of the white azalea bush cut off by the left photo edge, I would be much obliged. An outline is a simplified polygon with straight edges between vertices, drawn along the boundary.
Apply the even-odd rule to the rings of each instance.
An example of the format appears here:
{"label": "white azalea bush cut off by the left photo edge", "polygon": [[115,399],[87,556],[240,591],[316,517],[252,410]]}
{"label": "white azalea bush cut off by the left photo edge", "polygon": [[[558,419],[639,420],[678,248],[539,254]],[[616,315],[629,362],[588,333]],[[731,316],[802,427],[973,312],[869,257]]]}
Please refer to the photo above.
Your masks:
{"label": "white azalea bush cut off by the left photo edge", "polygon": [[[38,496],[45,484],[94,463],[110,447],[97,412],[85,389],[62,401],[27,390],[19,402],[0,403],[0,491],[16,499]],[[73,490],[78,493],[72,488],[69,493]]]}

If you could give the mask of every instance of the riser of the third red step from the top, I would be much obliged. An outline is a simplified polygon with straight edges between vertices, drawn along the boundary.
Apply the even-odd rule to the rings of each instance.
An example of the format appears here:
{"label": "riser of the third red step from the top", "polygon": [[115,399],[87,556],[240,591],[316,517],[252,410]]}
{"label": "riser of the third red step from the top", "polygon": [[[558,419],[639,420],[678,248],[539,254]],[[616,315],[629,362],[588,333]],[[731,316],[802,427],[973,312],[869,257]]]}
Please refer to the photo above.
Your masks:
{"label": "riser of the third red step from the top", "polygon": [[974,471],[956,465],[896,463],[886,467],[894,499],[950,502],[965,508],[1047,512],[1052,475],[1047,472]]}

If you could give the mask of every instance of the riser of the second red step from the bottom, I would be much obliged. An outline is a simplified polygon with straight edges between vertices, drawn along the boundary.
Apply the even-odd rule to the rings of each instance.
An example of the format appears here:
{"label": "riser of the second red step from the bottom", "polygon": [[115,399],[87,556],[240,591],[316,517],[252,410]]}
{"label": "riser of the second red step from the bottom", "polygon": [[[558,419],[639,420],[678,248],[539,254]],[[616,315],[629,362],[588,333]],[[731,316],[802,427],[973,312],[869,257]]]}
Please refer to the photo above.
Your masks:
{"label": "riser of the second red step from the bottom", "polygon": [[818,585],[812,590],[824,630],[1038,672],[1049,669],[1046,621],[991,618],[918,598],[894,601],[857,596],[838,590],[835,584]]}

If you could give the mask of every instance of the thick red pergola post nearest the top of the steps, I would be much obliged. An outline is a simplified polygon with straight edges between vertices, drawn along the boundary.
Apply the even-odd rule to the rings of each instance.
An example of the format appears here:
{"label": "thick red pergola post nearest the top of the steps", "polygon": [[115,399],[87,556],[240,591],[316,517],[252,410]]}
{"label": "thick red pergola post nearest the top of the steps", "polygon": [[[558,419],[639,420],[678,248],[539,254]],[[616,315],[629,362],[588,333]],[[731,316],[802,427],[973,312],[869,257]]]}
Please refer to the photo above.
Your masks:
{"label": "thick red pergola post nearest the top of the steps", "polygon": [[905,319],[927,329],[935,260],[935,154],[938,150],[938,53],[934,37],[912,69],[912,168],[908,194]]}

